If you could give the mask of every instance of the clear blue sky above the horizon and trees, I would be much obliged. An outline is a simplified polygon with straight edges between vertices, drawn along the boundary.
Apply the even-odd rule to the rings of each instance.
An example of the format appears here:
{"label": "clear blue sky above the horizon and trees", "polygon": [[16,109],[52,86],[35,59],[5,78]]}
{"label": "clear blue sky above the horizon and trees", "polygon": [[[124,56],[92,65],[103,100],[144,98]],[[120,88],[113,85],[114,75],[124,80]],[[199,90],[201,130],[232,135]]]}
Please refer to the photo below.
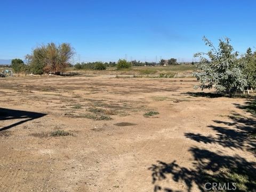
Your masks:
{"label": "clear blue sky above the horizon and trees", "polygon": [[[256,1],[0,1],[0,59],[21,58],[33,47],[68,42],[74,61],[190,61],[231,38],[244,53],[256,46]],[[255,49],[253,49],[255,50]]]}

